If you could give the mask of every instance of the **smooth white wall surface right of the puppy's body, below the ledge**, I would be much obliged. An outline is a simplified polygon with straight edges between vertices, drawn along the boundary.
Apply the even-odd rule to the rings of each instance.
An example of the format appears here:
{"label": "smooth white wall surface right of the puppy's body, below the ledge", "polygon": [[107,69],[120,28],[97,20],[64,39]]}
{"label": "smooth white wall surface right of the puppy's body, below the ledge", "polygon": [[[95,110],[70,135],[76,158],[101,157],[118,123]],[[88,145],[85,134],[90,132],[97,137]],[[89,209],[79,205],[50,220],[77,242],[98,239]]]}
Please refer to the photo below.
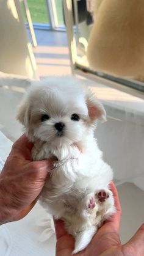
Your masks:
{"label": "smooth white wall surface right of the puppy's body, below the ledge", "polygon": [[118,183],[133,182],[144,190],[144,117],[106,105],[105,109],[107,122],[95,131],[104,160]]}

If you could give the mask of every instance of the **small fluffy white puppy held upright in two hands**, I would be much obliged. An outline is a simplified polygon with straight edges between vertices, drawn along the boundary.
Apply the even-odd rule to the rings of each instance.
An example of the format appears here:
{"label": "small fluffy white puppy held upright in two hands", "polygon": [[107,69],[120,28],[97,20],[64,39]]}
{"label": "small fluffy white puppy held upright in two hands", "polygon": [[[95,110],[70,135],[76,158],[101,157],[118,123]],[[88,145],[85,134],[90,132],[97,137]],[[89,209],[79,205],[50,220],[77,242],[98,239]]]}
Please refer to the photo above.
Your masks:
{"label": "small fluffy white puppy held upright in two hands", "polygon": [[109,182],[112,169],[102,159],[93,132],[106,111],[73,76],[49,78],[32,86],[17,115],[34,142],[34,160],[57,158],[41,192],[41,203],[84,249],[115,211]]}

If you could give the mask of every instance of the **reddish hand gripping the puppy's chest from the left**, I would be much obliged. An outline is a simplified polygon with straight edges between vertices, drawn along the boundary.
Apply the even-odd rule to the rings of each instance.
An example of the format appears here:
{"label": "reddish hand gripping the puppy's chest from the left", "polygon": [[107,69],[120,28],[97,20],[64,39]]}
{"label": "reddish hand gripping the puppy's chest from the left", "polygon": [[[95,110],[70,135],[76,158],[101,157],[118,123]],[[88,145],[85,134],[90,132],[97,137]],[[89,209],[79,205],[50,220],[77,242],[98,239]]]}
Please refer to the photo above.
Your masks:
{"label": "reddish hand gripping the puppy's chest from the left", "polygon": [[34,207],[51,167],[50,160],[32,161],[33,144],[25,135],[12,146],[0,174],[0,224],[16,221]]}

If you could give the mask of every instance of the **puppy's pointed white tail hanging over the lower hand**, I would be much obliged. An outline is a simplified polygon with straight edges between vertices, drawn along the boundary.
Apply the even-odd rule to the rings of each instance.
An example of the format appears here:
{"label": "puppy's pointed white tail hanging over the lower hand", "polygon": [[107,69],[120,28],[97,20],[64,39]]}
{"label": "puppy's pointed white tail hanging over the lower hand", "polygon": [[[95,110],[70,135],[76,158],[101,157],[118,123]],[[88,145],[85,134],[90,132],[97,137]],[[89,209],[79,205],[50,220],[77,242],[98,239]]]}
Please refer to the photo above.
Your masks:
{"label": "puppy's pointed white tail hanging over the lower hand", "polygon": [[97,228],[95,226],[92,226],[88,230],[83,230],[82,232],[77,233],[75,238],[76,241],[75,241],[74,251],[72,254],[76,254],[77,252],[84,250],[85,247],[87,247],[90,241],[92,240],[96,231],[97,231]]}

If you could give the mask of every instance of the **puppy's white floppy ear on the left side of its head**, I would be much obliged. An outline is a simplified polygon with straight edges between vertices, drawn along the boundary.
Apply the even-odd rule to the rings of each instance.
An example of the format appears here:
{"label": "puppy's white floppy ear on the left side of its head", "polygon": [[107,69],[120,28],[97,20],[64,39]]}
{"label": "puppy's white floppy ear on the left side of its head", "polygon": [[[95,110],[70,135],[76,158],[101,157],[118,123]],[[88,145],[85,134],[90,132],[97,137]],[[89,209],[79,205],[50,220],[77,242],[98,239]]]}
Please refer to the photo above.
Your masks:
{"label": "puppy's white floppy ear on the left side of its head", "polygon": [[30,122],[30,107],[26,100],[23,100],[18,107],[16,119],[25,127],[29,126]]}

